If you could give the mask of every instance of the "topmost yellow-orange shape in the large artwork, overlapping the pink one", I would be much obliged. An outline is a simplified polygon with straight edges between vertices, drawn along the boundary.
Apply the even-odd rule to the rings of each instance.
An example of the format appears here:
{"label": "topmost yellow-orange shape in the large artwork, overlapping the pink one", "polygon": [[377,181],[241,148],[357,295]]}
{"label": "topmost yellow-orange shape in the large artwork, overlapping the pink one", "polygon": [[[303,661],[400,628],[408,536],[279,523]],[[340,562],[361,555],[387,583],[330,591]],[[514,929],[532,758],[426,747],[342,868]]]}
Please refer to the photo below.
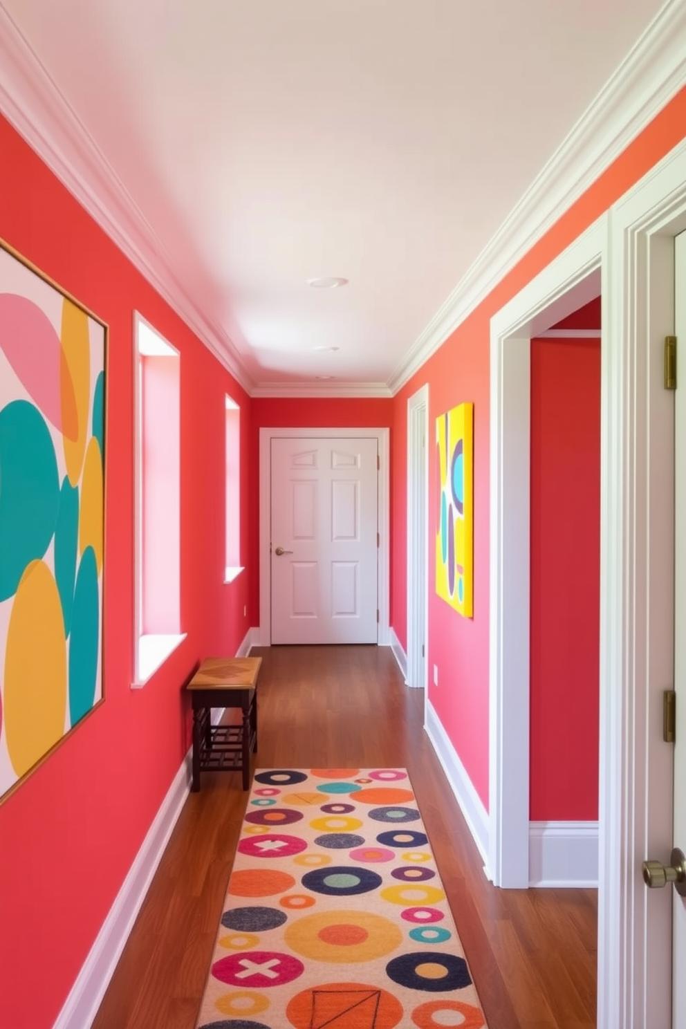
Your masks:
{"label": "topmost yellow-orange shape in the large artwork, overlapping the pink one", "polygon": [[[63,436],[67,475],[72,486],[78,484],[85,454],[91,409],[91,341],[88,316],[71,300],[62,307],[62,353],[60,360],[63,409],[70,413],[76,404],[76,433]],[[72,414],[73,421],[73,414]]]}

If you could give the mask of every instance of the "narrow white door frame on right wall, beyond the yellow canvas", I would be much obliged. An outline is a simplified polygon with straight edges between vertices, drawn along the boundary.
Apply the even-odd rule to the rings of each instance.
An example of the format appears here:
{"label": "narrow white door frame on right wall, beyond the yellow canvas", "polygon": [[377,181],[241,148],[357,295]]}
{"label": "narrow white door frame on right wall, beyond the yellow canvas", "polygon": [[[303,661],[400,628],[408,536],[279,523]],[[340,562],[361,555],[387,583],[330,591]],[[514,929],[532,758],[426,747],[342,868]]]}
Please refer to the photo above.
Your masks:
{"label": "narrow white door frame on right wall, beyond the yellow canvas", "polygon": [[[423,442],[424,440],[424,442]],[[426,688],[429,647],[429,384],[407,400],[407,672]],[[424,630],[424,631],[422,631]],[[422,653],[422,644],[424,653]]]}

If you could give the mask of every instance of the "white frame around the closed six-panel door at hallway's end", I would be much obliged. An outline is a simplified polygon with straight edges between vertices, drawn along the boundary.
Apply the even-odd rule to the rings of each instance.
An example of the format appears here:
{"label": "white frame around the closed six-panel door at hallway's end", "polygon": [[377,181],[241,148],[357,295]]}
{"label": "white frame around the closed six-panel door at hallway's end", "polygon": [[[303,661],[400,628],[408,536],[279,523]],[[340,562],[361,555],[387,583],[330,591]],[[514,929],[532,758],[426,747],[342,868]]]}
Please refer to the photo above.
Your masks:
{"label": "white frame around the closed six-panel door at hallway's end", "polygon": [[259,646],[272,645],[272,440],[275,438],[375,438],[378,445],[378,637],[380,646],[389,646],[390,604],[390,489],[389,489],[389,429],[388,428],[261,428],[259,430]]}

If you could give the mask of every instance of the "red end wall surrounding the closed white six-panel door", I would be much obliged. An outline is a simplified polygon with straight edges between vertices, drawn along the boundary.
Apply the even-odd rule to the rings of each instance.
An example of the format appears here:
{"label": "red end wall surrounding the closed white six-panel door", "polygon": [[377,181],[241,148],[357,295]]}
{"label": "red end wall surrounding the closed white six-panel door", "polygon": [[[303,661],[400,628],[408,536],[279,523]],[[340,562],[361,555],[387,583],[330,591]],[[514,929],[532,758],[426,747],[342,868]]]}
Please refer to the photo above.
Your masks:
{"label": "red end wall surrounding the closed white six-panel door", "polygon": [[[251,406],[250,432],[250,504],[254,517],[250,525],[250,567],[255,569],[250,598],[251,625],[259,625],[259,430],[260,429],[390,429],[391,455],[394,453],[393,400],[385,397],[254,397]],[[393,495],[391,462],[391,495]],[[403,508],[404,510],[404,508]],[[395,522],[402,511],[391,507],[390,535],[393,548]],[[393,579],[392,579],[393,582]],[[391,583],[392,584],[392,583]],[[391,625],[393,618],[391,593]]]}

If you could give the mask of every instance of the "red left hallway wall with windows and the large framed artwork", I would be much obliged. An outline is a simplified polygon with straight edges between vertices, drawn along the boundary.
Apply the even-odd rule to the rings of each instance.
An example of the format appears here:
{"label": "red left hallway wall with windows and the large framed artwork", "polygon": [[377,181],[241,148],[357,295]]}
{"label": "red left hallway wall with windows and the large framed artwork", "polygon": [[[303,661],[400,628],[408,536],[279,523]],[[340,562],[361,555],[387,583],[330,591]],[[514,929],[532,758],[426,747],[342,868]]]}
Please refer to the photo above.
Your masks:
{"label": "red left hallway wall with windows and the large framed artwork", "polygon": [[[0,236],[109,324],[105,702],[0,805],[0,1026],[48,1029],[189,747],[182,685],[208,652],[234,653],[249,625],[252,569],[223,584],[224,394],[242,404],[245,427],[250,400],[4,119],[0,153]],[[188,634],[140,690],[131,689],[134,309],[181,353]]]}

